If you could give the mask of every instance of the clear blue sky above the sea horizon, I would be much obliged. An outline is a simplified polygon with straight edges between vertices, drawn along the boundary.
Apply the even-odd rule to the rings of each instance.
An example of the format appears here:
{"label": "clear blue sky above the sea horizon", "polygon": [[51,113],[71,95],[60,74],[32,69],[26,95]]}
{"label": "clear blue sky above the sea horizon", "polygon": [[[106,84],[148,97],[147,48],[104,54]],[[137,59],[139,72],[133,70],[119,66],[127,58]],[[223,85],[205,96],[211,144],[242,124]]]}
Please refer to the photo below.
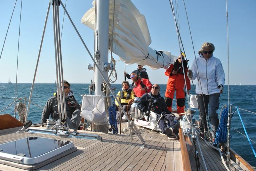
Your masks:
{"label": "clear blue sky above the sea horizon", "polygon": [[[172,55],[179,55],[179,44],[174,25],[174,18],[168,0],[132,0],[141,14],[145,15],[152,43],[149,45],[156,50],[170,51]],[[0,50],[2,50],[5,34],[11,18],[15,0],[0,1]],[[65,4],[65,0],[63,0]],[[227,18],[226,1],[224,0],[185,0],[189,25],[194,44],[194,50],[188,21],[186,18],[183,1],[180,0],[174,6],[178,9],[179,28],[182,42],[185,48],[189,67],[195,59],[203,42],[208,41],[215,45],[213,55],[220,59],[226,79],[225,85],[240,83],[242,85],[256,85],[255,59],[256,53],[256,1],[232,0],[228,1],[228,28],[229,28],[229,60],[227,46]],[[16,82],[17,51],[19,38],[20,5],[17,4],[13,13],[9,32],[5,41],[3,53],[0,59],[0,83],[8,82],[9,78]],[[32,83],[36,61],[42,37],[48,1],[38,0],[22,1],[20,45],[18,58],[18,83]],[[85,44],[93,54],[94,36],[93,30],[80,22],[84,13],[92,7],[89,0],[67,0],[67,11]],[[63,9],[60,8],[60,22],[62,26]],[[64,17],[62,30],[62,58],[64,79],[70,83],[91,83],[93,72],[88,71],[87,66],[93,63],[82,42],[77,36],[67,16]],[[114,55],[116,60],[118,56]],[[229,72],[228,72],[229,61]],[[166,84],[168,77],[164,75],[164,69],[147,69],[149,80],[153,84]],[[127,73],[137,68],[137,64],[127,65]],[[124,63],[116,62],[117,81],[124,80]],[[229,74],[228,74],[229,73]],[[228,77],[229,75],[229,77]],[[54,83],[55,52],[52,26],[52,8],[48,18],[43,47],[36,74],[36,83]],[[229,78],[229,79],[228,79]],[[112,78],[113,79],[113,78]],[[131,82],[131,81],[130,81]]]}

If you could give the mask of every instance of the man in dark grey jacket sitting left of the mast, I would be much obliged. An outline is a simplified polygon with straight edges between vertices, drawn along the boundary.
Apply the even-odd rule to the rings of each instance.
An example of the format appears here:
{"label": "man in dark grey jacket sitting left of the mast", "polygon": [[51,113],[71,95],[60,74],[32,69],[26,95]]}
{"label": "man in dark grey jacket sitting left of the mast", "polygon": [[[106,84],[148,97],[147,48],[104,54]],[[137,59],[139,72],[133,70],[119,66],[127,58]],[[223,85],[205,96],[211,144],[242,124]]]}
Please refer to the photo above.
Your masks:
{"label": "man in dark grey jacket sitting left of the mast", "polygon": [[[66,80],[64,80],[64,91],[67,111],[66,126],[70,129],[78,129],[81,121],[81,108],[80,105],[77,103],[75,97],[73,96],[73,91],[70,90],[70,84]],[[46,119],[48,119],[51,115],[51,118],[57,120],[57,123],[60,124],[57,92],[53,93],[53,95],[54,96],[51,97],[44,106],[44,109],[42,111],[41,123],[46,123]]]}

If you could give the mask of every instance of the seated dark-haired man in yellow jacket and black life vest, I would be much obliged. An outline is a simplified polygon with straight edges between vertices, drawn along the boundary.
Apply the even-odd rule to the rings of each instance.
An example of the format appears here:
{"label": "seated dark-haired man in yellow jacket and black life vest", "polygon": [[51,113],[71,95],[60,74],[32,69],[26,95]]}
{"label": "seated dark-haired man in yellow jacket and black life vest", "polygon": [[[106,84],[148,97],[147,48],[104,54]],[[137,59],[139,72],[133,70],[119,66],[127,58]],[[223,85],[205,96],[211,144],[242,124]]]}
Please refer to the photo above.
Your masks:
{"label": "seated dark-haired man in yellow jacket and black life vest", "polygon": [[[135,98],[134,97],[134,91],[130,88],[130,85],[129,85],[129,82],[128,81],[123,81],[122,82],[122,90],[119,91],[117,93],[117,99],[120,101],[121,99],[121,105],[124,109],[124,111],[126,110],[130,110],[131,109],[131,105],[132,105],[132,102],[133,102],[133,99]],[[115,103],[116,103],[116,107],[119,107],[117,101],[115,100]],[[129,103],[129,105],[128,105]],[[124,112],[121,110],[121,117],[124,116]]]}

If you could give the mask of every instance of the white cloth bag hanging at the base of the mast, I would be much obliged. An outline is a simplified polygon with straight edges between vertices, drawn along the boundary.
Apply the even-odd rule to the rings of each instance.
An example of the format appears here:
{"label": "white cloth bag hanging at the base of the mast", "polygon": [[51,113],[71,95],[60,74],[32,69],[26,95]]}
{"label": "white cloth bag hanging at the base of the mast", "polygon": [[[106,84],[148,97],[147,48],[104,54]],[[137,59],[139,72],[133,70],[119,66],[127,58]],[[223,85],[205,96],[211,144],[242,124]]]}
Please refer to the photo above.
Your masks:
{"label": "white cloth bag hanging at the base of the mast", "polygon": [[92,123],[108,121],[103,96],[84,95],[80,116]]}

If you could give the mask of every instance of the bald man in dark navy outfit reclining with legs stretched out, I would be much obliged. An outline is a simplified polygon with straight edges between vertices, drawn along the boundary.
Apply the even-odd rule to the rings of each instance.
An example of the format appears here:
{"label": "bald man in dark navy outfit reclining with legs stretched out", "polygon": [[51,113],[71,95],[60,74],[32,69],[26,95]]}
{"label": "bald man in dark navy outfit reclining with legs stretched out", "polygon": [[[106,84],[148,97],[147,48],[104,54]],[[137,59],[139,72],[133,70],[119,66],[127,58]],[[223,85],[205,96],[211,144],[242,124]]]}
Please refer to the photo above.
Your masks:
{"label": "bald man in dark navy outfit reclining with legs stretched out", "polygon": [[[141,112],[146,113],[146,116],[149,115],[150,111],[156,113],[157,121],[161,117],[162,112],[165,112],[163,114],[163,117],[158,122],[160,129],[168,137],[170,137],[172,133],[178,135],[180,123],[175,124],[173,116],[171,115],[172,113],[167,109],[164,98],[161,97],[159,91],[160,86],[158,84],[154,84],[152,86],[151,92],[143,94],[137,101],[138,108],[140,109]],[[165,120],[167,120],[168,123],[170,124],[170,128],[167,127]]]}

